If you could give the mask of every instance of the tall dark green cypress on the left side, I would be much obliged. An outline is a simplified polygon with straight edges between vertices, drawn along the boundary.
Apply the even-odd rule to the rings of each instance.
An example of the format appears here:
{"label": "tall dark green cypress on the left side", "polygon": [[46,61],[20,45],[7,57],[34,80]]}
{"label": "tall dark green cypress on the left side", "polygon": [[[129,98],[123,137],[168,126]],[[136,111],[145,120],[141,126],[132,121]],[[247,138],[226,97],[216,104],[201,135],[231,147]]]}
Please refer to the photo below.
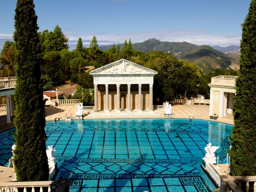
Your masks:
{"label": "tall dark green cypress on the left side", "polygon": [[45,111],[40,82],[42,57],[33,0],[17,0],[14,20],[17,76],[14,94],[15,172],[18,181],[48,180]]}

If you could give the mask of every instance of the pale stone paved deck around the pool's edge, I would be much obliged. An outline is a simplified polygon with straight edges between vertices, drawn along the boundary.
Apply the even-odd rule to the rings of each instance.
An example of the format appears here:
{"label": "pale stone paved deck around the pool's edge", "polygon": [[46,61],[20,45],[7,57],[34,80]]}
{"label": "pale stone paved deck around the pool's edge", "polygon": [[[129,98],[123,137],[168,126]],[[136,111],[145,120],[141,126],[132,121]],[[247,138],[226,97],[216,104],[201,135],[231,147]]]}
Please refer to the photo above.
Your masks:
{"label": "pale stone paved deck around the pool's edge", "polygon": [[[209,117],[209,106],[208,105],[174,105],[172,106],[174,116],[172,118],[195,118],[210,120]],[[65,120],[66,115],[72,116],[74,118],[74,105],[62,105],[55,107],[46,107],[46,121]],[[193,117],[192,117],[193,116]],[[136,110],[132,112],[121,111],[117,113],[112,110],[110,113],[105,113],[100,111],[98,113],[93,113],[93,111],[84,111],[84,119],[95,119],[95,118],[164,118],[164,110],[155,110],[154,113],[143,111],[137,112]],[[217,120],[212,120],[217,122],[224,122],[227,124],[234,124],[234,116],[229,114],[223,118],[218,118]],[[6,111],[0,111],[0,132],[14,128],[14,124],[6,123]],[[222,170],[223,169],[223,170]],[[221,172],[226,172],[226,166],[220,166]],[[0,166],[0,182],[10,182],[14,181],[13,168],[7,168]]]}

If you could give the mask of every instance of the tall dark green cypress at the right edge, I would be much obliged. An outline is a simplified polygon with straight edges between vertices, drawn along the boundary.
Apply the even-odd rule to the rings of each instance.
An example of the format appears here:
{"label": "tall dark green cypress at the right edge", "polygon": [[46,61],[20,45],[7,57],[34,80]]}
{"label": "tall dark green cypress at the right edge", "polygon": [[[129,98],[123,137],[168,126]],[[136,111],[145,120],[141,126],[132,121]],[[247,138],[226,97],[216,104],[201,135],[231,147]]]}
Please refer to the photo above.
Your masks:
{"label": "tall dark green cypress at the right edge", "polygon": [[234,97],[234,128],[230,141],[235,176],[256,175],[256,0],[242,24],[240,70]]}

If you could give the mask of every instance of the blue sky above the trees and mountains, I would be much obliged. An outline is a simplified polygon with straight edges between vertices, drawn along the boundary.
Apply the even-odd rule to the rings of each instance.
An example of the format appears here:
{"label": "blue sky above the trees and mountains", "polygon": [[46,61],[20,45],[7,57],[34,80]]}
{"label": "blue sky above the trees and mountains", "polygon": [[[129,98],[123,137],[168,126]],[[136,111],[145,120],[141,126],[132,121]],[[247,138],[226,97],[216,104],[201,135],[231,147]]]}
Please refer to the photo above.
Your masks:
{"label": "blue sky above the trees and mountains", "polygon": [[[196,45],[239,45],[251,0],[34,0],[40,31],[56,25],[88,47],[156,38]],[[16,0],[0,0],[0,49],[12,39]]]}

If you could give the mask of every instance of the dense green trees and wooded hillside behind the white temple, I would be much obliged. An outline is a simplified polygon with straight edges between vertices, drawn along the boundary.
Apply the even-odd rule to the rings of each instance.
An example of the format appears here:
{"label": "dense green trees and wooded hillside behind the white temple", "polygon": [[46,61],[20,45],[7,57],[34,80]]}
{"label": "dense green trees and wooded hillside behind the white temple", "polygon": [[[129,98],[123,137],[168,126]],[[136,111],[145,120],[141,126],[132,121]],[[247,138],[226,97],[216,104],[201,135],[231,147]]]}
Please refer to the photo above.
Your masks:
{"label": "dense green trees and wooded hillside behind the white temple", "polygon": [[[229,56],[208,46],[198,47],[187,42],[160,42],[150,39],[142,45],[132,44],[129,39],[129,41],[125,40],[122,46],[113,44],[107,50],[101,50],[94,36],[89,48],[85,48],[82,39],[79,38],[76,49],[69,51],[68,38],[62,33],[59,26],[56,26],[54,31],[44,30],[39,33],[39,38],[43,58],[41,71],[44,90],[50,90],[52,86],[60,86],[66,82],[78,84],[80,91],[83,90],[82,88],[84,90],[93,88],[93,78],[89,74],[90,69],[105,66],[121,58],[158,72],[154,76],[154,103],[156,98],[159,98],[161,103],[165,100],[191,97],[197,94],[208,98],[209,87],[207,84],[210,83],[212,76],[236,75],[235,71],[226,70],[230,64]],[[141,46],[145,52],[134,49],[136,46]],[[1,77],[15,76],[13,64],[15,48],[14,42],[6,41],[0,52]],[[157,49],[165,49],[165,51]],[[206,61],[200,61],[199,63],[204,63],[200,67],[193,62],[193,60],[198,61],[206,55],[212,58],[212,61],[208,62],[218,61],[220,63],[221,61],[222,64],[219,65],[222,69],[218,69],[217,65],[208,66]],[[78,93],[81,94],[81,92]],[[86,98],[90,98],[88,91],[84,92],[85,94],[88,96]],[[93,100],[90,100],[87,103],[92,102]]]}

